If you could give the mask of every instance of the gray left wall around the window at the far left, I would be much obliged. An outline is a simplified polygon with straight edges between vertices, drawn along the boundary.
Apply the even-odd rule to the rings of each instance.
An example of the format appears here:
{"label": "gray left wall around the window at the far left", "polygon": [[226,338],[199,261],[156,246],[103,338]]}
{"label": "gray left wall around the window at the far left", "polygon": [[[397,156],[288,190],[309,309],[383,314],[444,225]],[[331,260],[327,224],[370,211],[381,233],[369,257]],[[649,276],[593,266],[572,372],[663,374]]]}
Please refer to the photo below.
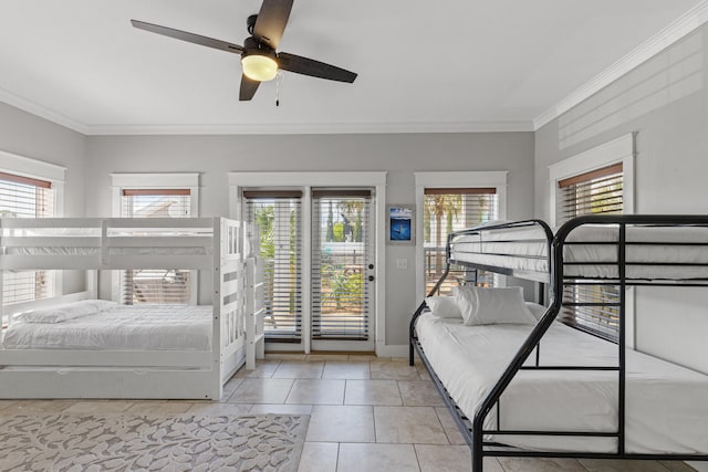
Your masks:
{"label": "gray left wall around the window at the far left", "polygon": [[[66,167],[64,216],[83,217],[86,137],[0,102],[0,150]],[[81,272],[64,274],[64,292],[84,287]]]}

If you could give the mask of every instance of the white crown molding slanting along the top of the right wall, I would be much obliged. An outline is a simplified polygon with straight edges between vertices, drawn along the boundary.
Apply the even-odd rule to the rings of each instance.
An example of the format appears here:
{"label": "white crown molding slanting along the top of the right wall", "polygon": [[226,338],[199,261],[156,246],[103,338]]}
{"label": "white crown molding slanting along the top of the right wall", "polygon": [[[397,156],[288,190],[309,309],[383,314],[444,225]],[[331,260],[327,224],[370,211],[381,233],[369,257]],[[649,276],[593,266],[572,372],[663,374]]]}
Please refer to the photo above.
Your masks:
{"label": "white crown molding slanting along the top of the right wall", "polygon": [[639,44],[624,57],[585,82],[570,95],[533,119],[533,130],[549,124],[581,102],[590,98],[637,65],[652,59],[664,49],[688,35],[708,21],[708,0],[704,0],[685,14],[673,21],[658,33]]}

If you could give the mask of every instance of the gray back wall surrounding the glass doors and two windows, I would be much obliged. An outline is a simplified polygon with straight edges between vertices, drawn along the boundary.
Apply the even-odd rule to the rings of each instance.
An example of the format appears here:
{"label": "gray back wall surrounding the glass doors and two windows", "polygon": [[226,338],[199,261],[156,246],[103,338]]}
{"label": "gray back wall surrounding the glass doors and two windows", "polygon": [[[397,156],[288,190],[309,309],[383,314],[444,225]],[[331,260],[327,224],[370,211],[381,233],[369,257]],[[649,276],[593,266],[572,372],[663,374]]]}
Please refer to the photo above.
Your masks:
{"label": "gray back wall surrounding the glass doors and two windows", "polygon": [[[86,216],[111,214],[111,172],[199,171],[199,212],[228,214],[229,171],[387,171],[387,202],[415,203],[414,171],[509,170],[508,216],[533,214],[533,134],[102,136],[87,138]],[[379,230],[384,230],[381,228]],[[396,270],[408,259],[408,270]],[[386,248],[386,344],[407,343],[415,251]]]}

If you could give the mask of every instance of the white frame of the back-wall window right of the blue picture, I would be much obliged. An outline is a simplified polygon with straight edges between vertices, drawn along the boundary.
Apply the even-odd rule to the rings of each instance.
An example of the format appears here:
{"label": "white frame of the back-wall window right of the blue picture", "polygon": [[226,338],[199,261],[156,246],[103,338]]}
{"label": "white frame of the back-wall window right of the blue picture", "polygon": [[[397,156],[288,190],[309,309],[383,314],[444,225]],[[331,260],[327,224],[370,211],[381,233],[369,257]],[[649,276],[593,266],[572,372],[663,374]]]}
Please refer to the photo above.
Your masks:
{"label": "white frame of the back-wall window right of the blue picture", "polygon": [[425,293],[425,248],[423,213],[426,188],[489,188],[497,189],[497,218],[507,219],[508,170],[471,170],[460,172],[414,172],[416,183],[416,300]]}

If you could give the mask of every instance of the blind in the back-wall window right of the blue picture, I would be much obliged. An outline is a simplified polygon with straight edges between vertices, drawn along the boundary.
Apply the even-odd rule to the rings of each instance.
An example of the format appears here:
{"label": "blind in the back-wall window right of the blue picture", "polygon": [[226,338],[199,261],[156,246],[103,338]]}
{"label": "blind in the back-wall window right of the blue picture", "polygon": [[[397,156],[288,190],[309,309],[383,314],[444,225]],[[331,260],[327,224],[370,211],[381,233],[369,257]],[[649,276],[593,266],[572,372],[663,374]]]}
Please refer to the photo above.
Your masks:
{"label": "blind in the back-wall window right of the blue picture", "polygon": [[[433,290],[445,272],[447,235],[452,231],[496,220],[498,214],[499,199],[493,187],[425,189],[423,231],[426,293]],[[449,295],[455,285],[464,283],[492,286],[493,275],[454,265],[440,293]]]}

